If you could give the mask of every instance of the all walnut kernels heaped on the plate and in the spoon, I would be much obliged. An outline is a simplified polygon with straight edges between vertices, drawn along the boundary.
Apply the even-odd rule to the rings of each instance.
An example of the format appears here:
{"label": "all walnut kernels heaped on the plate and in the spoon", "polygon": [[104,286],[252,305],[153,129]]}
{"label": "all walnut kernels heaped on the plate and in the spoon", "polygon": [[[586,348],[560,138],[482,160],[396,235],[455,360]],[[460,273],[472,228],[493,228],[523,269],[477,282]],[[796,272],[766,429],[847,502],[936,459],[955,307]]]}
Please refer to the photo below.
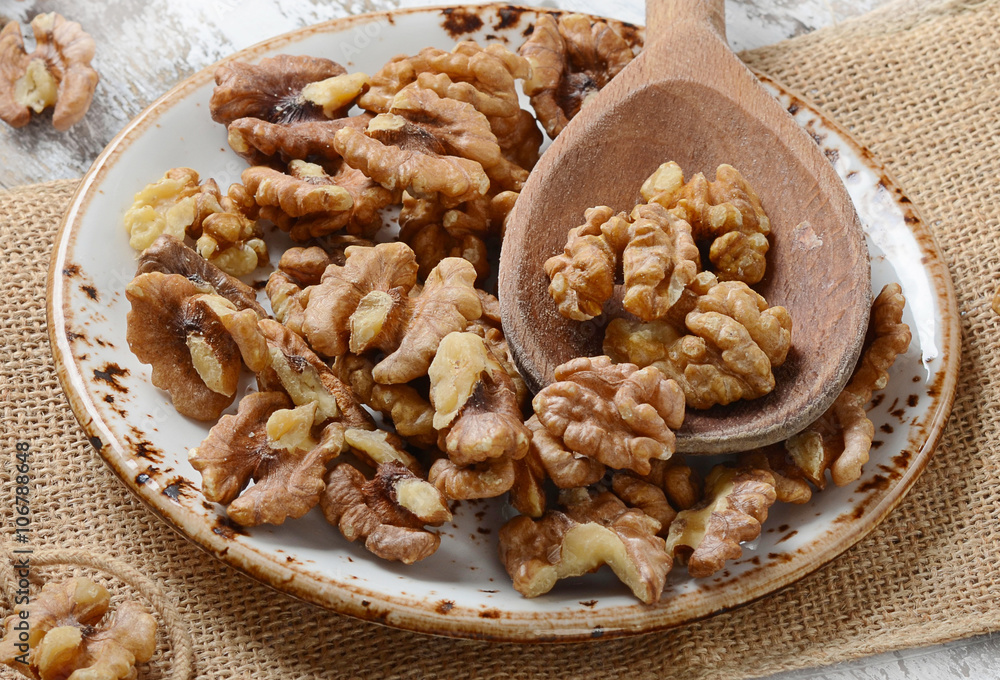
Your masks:
{"label": "all walnut kernels heaped on the plate and in the spoon", "polygon": [[[175,168],[126,215],[141,251],[129,345],[180,413],[215,423],[190,451],[207,500],[243,526],[319,506],[347,540],[412,563],[440,545],[453,501],[506,499],[520,514],[499,551],[519,592],[608,564],[653,603],[675,561],[712,574],[775,500],[808,501],[828,469],[838,484],[850,475],[837,470],[860,474],[864,404],[909,342],[898,287],[876,302],[840,407],[799,440],[704,478],[673,455],[688,406],[766,393],[760,367],[770,375],[790,342],[787,314],[749,288],[769,227],[728,166],[709,183],[668,164],[631,215],[589,211],[549,272],[560,311],[599,314],[621,262],[639,321],[612,323],[609,356],[560,366],[533,398],[518,374],[485,282],[538,159],[538,123],[558,134],[632,56],[603,22],[542,15],[518,53],[462,42],[372,76],[304,56],[218,69],[211,113],[250,164],[241,183],[223,194]],[[398,236],[386,239],[393,206]],[[299,245],[267,280],[267,310],[237,277],[267,264],[269,225]],[[700,349],[674,343],[678,319]],[[742,344],[724,346],[736,326]],[[244,369],[257,391],[223,415]],[[721,392],[690,378],[706,371]]]}

